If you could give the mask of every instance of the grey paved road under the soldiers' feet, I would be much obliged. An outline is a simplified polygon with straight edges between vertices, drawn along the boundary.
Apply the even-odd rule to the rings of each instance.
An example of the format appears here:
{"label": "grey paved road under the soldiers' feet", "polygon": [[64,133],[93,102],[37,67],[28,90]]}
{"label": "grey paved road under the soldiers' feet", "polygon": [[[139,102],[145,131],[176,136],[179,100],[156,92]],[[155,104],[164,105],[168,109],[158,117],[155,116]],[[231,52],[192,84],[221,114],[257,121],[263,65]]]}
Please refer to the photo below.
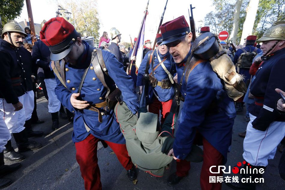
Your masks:
{"label": "grey paved road under the soldiers' feet", "polygon": [[[28,151],[24,153],[27,158],[22,161],[22,168],[18,171],[5,176],[14,181],[12,185],[5,190],[39,190],[39,189],[56,189],[56,190],[80,190],[84,189],[84,181],[81,178],[79,165],[75,159],[75,147],[71,140],[73,131],[72,123],[67,120],[60,119],[61,128],[51,130],[51,115],[48,113],[47,101],[44,98],[37,100],[38,116],[45,123],[36,125],[34,130],[42,130],[45,132],[43,137],[31,138],[43,144],[39,150]],[[243,161],[242,158],[242,142],[237,134],[243,132],[247,123],[243,118],[244,114],[238,114],[232,133],[232,150],[228,154],[227,166],[234,166],[237,162]],[[16,147],[12,138],[13,146]],[[17,149],[16,149],[17,151]],[[152,177],[142,171],[138,171],[137,184],[128,180],[126,171],[118,162],[115,154],[108,147],[102,148],[98,146],[98,164],[101,170],[101,181],[105,190],[148,190],[148,189],[200,189],[199,176],[202,163],[192,163],[189,175],[182,179],[176,186],[167,185],[167,177],[175,172],[176,163],[173,161],[170,169],[164,174],[164,177]],[[285,181],[280,178],[277,171],[281,154],[277,151],[274,160],[269,161],[269,165],[263,174],[265,183],[258,185],[256,189],[283,189]],[[10,165],[12,162],[5,161]],[[230,189],[223,184],[222,189]]]}

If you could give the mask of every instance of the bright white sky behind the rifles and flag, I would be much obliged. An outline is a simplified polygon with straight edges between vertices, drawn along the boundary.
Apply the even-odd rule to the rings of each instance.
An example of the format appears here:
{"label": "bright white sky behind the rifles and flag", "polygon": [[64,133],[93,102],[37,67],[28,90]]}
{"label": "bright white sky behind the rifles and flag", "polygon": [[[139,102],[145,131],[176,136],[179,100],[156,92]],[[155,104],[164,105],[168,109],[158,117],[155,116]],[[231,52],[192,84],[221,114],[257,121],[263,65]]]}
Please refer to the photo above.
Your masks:
{"label": "bright white sky behind the rifles and flag", "polygon": [[[49,20],[55,17],[57,2],[60,3],[61,0],[31,0],[34,22],[41,23],[44,19]],[[165,3],[166,0],[149,0],[149,14],[146,17],[145,40],[150,39],[153,41],[155,39]],[[24,1],[24,4],[21,15],[16,19],[18,22],[24,19],[29,21],[26,1]],[[147,0],[98,0],[97,4],[101,23],[99,30],[100,36],[104,31],[107,31],[110,37],[110,29],[116,27],[122,34],[122,42],[130,42],[129,35],[131,35],[133,40],[137,37]],[[188,8],[190,9],[190,4],[192,4],[192,7],[196,7],[193,9],[196,28],[202,26],[202,22],[198,21],[203,21],[205,15],[214,10],[212,0],[168,0],[162,23],[184,15],[189,24]]]}

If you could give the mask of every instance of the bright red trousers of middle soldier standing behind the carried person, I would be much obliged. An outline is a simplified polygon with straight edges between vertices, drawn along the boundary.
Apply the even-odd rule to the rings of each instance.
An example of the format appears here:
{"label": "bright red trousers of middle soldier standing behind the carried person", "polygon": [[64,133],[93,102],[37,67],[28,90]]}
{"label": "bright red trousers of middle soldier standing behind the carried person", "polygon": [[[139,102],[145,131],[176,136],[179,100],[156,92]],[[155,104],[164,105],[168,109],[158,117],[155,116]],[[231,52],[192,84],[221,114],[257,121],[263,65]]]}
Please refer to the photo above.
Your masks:
{"label": "bright red trousers of middle soldier standing behind the carried person", "polygon": [[161,124],[163,124],[165,118],[170,112],[171,104],[172,104],[172,99],[167,100],[166,102],[160,102],[154,96],[153,102],[149,104],[149,112],[159,115],[159,110],[161,110]]}

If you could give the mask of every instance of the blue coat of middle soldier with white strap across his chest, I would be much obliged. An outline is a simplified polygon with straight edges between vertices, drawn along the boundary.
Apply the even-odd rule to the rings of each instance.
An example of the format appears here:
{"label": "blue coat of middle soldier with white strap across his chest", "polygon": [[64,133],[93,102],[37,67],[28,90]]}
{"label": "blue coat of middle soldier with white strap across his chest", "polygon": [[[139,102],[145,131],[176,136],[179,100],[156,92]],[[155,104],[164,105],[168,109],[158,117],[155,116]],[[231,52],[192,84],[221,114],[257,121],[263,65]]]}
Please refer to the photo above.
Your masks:
{"label": "blue coat of middle soldier with white strap across his chest", "polygon": [[[158,52],[158,55],[157,55]],[[149,53],[152,53],[152,51],[149,51],[145,57],[143,58],[142,63],[140,64],[139,70],[138,70],[138,77],[137,77],[137,86],[142,86],[143,85],[143,74],[145,73],[146,70],[146,64],[147,63],[147,59],[149,56]],[[159,51],[155,51],[155,53],[153,54],[153,56],[155,56],[155,60],[154,60],[154,64],[153,64],[153,68],[155,68],[160,61],[158,60],[159,56],[161,58],[161,61],[164,58],[167,58],[163,64],[165,65],[165,67],[167,68],[167,70],[174,75],[176,73],[176,68],[175,65],[173,63],[171,63],[170,60],[170,53],[167,52],[165,55],[161,55]],[[149,66],[149,74],[152,73],[152,65]],[[154,77],[158,80],[161,81],[162,79],[168,79],[168,75],[167,73],[164,71],[164,69],[162,68],[162,66],[159,66],[155,71],[154,71]],[[174,87],[172,86],[169,89],[162,89],[160,86],[156,86],[156,87],[152,87],[151,85],[149,85],[149,99],[153,98],[154,93],[156,94],[157,98],[159,101],[161,102],[166,102],[170,99],[173,99],[174,96]]]}

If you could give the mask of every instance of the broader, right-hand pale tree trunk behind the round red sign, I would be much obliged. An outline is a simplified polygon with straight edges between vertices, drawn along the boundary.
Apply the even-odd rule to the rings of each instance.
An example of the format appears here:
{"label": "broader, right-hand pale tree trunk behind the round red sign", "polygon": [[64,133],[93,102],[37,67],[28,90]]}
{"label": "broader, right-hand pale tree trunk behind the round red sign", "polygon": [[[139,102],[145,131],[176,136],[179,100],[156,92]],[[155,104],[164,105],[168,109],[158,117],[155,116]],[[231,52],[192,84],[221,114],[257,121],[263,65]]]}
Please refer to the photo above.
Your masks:
{"label": "broader, right-hand pale tree trunk behind the round red sign", "polygon": [[246,9],[246,17],[242,27],[241,42],[244,43],[244,38],[252,34],[252,29],[255,21],[255,16],[258,8],[259,0],[250,0]]}

